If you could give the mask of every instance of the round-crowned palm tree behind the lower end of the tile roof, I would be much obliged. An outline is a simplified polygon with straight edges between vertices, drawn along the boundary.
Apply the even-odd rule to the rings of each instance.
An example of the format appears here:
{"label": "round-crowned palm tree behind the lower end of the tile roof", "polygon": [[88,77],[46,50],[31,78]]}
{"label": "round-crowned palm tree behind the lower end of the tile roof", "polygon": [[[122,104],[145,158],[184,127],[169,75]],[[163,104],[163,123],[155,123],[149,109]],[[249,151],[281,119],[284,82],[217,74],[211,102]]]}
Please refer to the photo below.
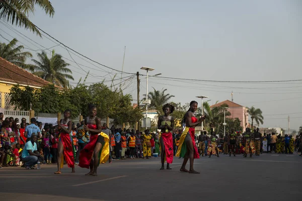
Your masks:
{"label": "round-crowned palm tree behind the lower end of the tile roof", "polygon": [[68,86],[67,79],[73,80],[70,75],[72,72],[67,68],[70,64],[66,63],[61,55],[55,54],[54,50],[52,50],[51,58],[48,58],[44,51],[38,53],[37,56],[40,61],[32,59],[36,64],[33,67],[33,74],[62,87]]}

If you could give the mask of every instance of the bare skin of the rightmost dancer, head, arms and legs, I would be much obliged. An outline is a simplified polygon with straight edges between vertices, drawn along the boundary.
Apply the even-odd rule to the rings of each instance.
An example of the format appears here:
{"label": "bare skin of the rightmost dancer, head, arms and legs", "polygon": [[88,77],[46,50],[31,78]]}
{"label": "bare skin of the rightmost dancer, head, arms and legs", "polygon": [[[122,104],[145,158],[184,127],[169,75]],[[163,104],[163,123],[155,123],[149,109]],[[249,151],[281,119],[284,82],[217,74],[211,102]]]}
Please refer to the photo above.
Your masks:
{"label": "bare skin of the rightmost dancer, head, arms and legs", "polygon": [[[195,117],[193,113],[196,112],[196,110],[197,110],[197,103],[193,103],[190,106],[190,111],[188,111],[186,113],[186,127],[195,128],[197,125],[201,124],[201,122],[205,119],[205,116],[202,116],[197,122],[193,123],[192,117]],[[183,164],[180,168],[180,171],[199,174],[200,172],[195,171],[193,168],[194,152],[195,152],[194,147],[193,147],[193,142],[191,140],[187,141],[186,145],[187,145],[187,153],[185,155],[185,158],[184,158]],[[190,159],[190,170],[187,170],[186,164],[189,159]]]}

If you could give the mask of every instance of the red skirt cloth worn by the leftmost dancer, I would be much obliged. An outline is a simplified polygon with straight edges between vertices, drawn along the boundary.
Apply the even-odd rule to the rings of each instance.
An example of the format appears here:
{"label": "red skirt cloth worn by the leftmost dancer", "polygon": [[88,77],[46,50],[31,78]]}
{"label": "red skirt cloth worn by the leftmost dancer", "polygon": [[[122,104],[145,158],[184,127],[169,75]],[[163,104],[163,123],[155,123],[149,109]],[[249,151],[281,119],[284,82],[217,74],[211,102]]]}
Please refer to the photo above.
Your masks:
{"label": "red skirt cloth worn by the leftmost dancer", "polygon": [[74,167],[74,157],[73,157],[73,148],[71,144],[71,139],[68,133],[61,133],[60,140],[63,143],[63,154],[64,159],[68,165],[68,167]]}

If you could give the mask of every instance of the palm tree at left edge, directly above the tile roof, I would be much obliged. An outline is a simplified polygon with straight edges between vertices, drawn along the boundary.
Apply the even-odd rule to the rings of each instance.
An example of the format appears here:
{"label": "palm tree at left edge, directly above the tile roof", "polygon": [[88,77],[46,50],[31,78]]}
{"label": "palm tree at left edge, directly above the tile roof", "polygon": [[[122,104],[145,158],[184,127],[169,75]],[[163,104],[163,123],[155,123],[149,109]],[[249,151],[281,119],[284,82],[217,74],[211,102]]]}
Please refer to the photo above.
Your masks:
{"label": "palm tree at left edge, directly above the tile roof", "polygon": [[17,46],[18,40],[14,38],[9,44],[0,43],[0,57],[22,68],[27,68],[25,64],[27,57],[32,57],[30,52],[23,52],[23,45]]}

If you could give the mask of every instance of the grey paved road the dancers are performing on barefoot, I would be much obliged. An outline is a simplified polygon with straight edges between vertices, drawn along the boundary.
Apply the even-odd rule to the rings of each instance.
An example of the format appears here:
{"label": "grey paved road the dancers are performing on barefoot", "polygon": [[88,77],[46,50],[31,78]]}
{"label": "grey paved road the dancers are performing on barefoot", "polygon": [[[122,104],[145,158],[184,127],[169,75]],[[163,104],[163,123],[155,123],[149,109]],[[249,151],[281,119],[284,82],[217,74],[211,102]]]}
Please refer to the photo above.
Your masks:
{"label": "grey paved road the dancers are performing on barefoot", "polygon": [[[40,170],[0,169],[0,195],[24,200],[300,200],[302,157],[297,154],[262,154],[243,158],[202,157],[195,160],[201,174],[179,172],[182,159],[174,158],[172,170],[160,170],[160,158],[127,159],[102,164],[98,176],[88,169],[67,166],[54,175],[55,165]],[[188,165],[187,165],[188,167]]]}

